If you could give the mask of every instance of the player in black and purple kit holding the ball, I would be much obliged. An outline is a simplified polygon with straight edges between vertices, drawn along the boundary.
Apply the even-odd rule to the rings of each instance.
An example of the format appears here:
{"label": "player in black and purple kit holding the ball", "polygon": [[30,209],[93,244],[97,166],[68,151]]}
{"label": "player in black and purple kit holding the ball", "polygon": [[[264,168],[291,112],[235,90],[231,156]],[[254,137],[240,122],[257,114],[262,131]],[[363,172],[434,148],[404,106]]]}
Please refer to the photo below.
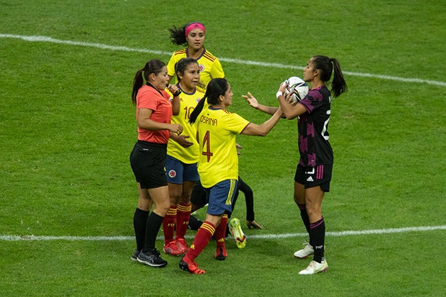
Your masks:
{"label": "player in black and purple kit holding the ball", "polygon": [[[331,92],[327,83],[331,79]],[[305,259],[313,255],[313,261],[299,274],[316,274],[328,269],[324,257],[325,222],[322,216],[322,199],[330,189],[333,168],[333,150],[329,143],[328,123],[331,115],[331,93],[338,97],[347,91],[347,84],[336,58],[314,56],[303,69],[303,80],[311,87],[298,104],[290,104],[290,96],[283,95],[286,84],[277,92],[280,108],[287,119],[298,118],[299,159],[294,176],[294,202],[301,212],[303,224],[309,234],[309,244],[294,252],[294,257]],[[258,104],[253,95],[244,98],[250,106],[271,114],[276,110]]]}

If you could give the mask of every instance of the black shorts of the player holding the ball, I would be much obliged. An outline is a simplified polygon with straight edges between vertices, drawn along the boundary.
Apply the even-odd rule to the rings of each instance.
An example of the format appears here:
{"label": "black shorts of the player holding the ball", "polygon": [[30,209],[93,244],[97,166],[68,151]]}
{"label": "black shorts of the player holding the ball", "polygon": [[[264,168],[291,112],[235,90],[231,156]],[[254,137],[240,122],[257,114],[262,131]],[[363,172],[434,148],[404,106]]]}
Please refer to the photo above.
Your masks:
{"label": "black shorts of the player holding the ball", "polygon": [[298,164],[294,181],[305,186],[305,189],[320,186],[324,192],[330,191],[332,164],[305,167]]}

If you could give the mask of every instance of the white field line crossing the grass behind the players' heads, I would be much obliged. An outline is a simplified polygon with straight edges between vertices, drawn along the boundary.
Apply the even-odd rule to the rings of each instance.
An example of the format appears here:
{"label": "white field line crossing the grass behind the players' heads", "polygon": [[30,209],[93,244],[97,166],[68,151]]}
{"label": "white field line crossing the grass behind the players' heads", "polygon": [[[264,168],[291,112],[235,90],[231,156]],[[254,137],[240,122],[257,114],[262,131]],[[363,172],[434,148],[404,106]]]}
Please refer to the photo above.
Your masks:
{"label": "white field line crossing the grass behind the players' heads", "polygon": [[[73,41],[73,40],[60,40],[55,39],[47,36],[23,36],[23,35],[14,35],[14,34],[0,34],[0,38],[19,38],[25,41],[34,41],[34,42],[41,42],[41,43],[61,43],[64,45],[78,45],[82,47],[96,47],[99,49],[108,49],[111,51],[136,51],[139,53],[148,53],[148,54],[156,54],[156,55],[164,55],[164,56],[171,56],[171,51],[157,51],[154,49],[133,49],[131,47],[118,47],[113,45],[103,45],[101,43],[84,43],[81,41]],[[287,65],[287,64],[280,64],[280,63],[268,63],[268,62],[257,62],[257,61],[250,61],[250,60],[239,60],[239,59],[233,59],[233,58],[221,58],[219,57],[220,61],[228,62],[228,63],[235,63],[235,64],[244,64],[244,65],[255,65],[255,66],[261,66],[261,67],[272,67],[272,68],[282,68],[282,69],[303,69],[301,66],[295,66],[295,65]],[[422,80],[420,78],[399,78],[397,76],[390,76],[390,75],[380,75],[380,74],[373,74],[373,73],[360,73],[360,72],[351,72],[351,71],[342,71],[346,75],[352,75],[352,76],[360,76],[364,78],[379,78],[382,80],[395,80],[398,82],[415,82],[419,84],[433,84],[436,86],[446,86],[446,82],[438,82],[436,80]]]}

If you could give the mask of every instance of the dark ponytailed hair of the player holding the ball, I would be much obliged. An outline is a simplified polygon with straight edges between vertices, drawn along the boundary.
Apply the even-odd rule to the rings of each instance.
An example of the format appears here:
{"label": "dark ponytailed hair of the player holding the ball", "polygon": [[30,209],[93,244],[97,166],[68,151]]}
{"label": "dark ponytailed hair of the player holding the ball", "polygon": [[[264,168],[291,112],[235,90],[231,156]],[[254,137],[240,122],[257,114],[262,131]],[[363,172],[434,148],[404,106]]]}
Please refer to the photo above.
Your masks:
{"label": "dark ponytailed hair of the player holding the ball", "polygon": [[[341,67],[336,58],[329,58],[327,56],[314,56],[312,58],[314,69],[320,70],[320,80],[328,82],[333,72],[333,81],[331,82],[331,92],[334,97],[338,97],[344,92],[347,92],[347,83],[342,75]],[[334,71],[333,71],[334,70]]]}

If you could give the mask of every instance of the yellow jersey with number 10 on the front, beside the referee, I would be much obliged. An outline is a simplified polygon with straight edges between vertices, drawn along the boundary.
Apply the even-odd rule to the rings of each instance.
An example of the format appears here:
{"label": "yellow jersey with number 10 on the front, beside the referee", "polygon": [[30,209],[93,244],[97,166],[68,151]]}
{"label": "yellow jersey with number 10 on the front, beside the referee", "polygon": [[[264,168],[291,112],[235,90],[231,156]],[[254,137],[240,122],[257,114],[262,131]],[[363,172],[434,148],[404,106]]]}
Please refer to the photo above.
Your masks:
{"label": "yellow jersey with number 10 on the front, beside the referee", "polygon": [[195,126],[192,126],[189,123],[189,117],[202,97],[204,97],[204,93],[199,90],[196,90],[190,94],[185,92],[181,93],[180,114],[172,116],[171,120],[171,123],[179,123],[181,126],[183,126],[183,132],[180,134],[180,136],[189,136],[187,141],[190,141],[193,143],[193,145],[183,147],[183,145],[180,145],[180,143],[174,141],[173,139],[169,139],[169,142],[167,143],[167,154],[186,164],[198,162],[197,132]]}

